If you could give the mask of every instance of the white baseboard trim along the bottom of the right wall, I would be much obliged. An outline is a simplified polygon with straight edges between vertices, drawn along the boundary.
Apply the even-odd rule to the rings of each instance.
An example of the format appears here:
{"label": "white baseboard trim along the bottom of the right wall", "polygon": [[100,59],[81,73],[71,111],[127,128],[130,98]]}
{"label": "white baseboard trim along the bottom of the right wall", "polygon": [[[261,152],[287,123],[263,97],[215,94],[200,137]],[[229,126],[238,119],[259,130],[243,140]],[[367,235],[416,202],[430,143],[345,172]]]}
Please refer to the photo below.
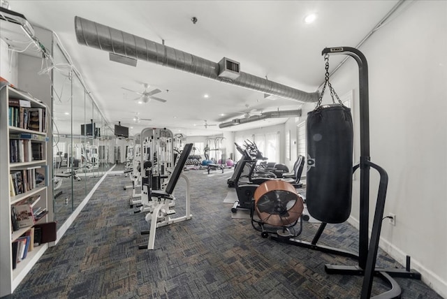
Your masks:
{"label": "white baseboard trim along the bottom of the right wall", "polygon": [[[354,226],[355,228],[359,228],[358,219],[350,216],[348,219],[348,223]],[[371,228],[369,228],[369,233],[371,233]],[[395,247],[395,245],[391,244],[388,240],[380,237],[379,239],[379,247],[383,249],[387,254],[389,254],[392,258],[394,258],[398,263],[404,267],[406,263],[406,254],[400,248]],[[434,272],[425,268],[418,260],[411,257],[411,269],[414,269],[420,272],[422,281],[430,286],[435,292],[439,294],[442,298],[447,298],[447,282],[441,279],[439,275],[436,275]]]}

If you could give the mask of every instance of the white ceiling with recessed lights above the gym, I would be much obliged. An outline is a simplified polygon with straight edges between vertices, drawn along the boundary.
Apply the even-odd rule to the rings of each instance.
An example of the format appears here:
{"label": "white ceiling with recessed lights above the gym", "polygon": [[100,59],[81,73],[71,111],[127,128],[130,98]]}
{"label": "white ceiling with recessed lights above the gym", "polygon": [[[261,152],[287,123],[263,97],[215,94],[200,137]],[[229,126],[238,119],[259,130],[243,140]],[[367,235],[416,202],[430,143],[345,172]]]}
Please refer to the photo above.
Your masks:
{"label": "white ceiling with recessed lights above the gym", "polygon": [[[398,1],[8,1],[34,26],[54,31],[73,64],[87,82],[103,115],[111,124],[166,127],[186,136],[210,136],[286,122],[269,119],[219,129],[202,125],[227,122],[248,110],[292,110],[301,103],[264,99],[263,93],[177,71],[147,61],[136,67],[109,60],[108,52],[79,45],[74,17],[104,24],[172,48],[219,62],[228,57],[241,71],[315,92],[324,79],[325,47],[354,47]],[[305,24],[308,13],[317,13]],[[192,17],[198,21],[193,24]],[[331,68],[344,57],[331,57]],[[166,103],[138,104],[142,83]],[[205,99],[204,94],[210,97]],[[248,108],[247,108],[248,105]],[[133,124],[133,117],[152,119]],[[224,114],[225,116],[221,116]],[[196,126],[194,126],[196,124]]]}

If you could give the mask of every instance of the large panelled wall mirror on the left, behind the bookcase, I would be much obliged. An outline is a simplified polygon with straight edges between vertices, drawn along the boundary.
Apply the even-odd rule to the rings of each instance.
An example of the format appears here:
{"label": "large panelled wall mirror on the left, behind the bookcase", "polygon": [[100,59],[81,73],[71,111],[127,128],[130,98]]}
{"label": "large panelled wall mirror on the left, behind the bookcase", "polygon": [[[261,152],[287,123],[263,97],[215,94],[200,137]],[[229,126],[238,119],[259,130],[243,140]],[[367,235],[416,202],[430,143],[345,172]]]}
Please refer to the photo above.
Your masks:
{"label": "large panelled wall mirror on the left, behind the bookcase", "polygon": [[54,219],[66,219],[112,166],[113,131],[73,71],[59,45],[53,47]]}

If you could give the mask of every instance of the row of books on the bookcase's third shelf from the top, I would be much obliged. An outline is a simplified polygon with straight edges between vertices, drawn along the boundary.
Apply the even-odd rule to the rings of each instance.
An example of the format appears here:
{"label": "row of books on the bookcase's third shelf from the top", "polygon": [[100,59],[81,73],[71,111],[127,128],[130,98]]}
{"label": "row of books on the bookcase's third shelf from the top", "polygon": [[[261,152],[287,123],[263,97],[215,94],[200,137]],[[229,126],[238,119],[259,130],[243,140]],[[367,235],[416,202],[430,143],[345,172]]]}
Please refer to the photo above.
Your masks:
{"label": "row of books on the bookcase's third shelf from the top", "polygon": [[48,166],[10,171],[10,196],[17,196],[36,187],[47,187]]}

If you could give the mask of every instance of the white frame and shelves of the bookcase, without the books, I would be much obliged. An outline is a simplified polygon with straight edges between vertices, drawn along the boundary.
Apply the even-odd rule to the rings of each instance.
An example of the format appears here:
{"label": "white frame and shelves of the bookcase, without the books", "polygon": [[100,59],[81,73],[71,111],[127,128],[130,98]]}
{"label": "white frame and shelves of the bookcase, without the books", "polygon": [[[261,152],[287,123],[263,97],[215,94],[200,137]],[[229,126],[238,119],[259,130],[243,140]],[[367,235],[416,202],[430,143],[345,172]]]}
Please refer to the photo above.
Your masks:
{"label": "white frame and shelves of the bookcase, without the books", "polygon": [[[11,99],[14,99],[14,101],[10,101]],[[20,103],[18,108],[17,100]],[[10,109],[10,105],[14,108]],[[24,115],[27,113],[24,112],[25,109],[28,109],[27,112],[30,115],[36,112],[36,114],[33,114],[33,121],[37,121],[37,124],[33,124],[33,126],[24,124]],[[51,182],[51,177],[43,175],[44,186],[36,183],[36,169],[48,168],[47,156],[49,156],[48,154],[51,151],[51,145],[48,142],[46,133],[47,126],[50,124],[47,118],[50,114],[46,110],[47,108],[43,102],[34,99],[27,92],[10,86],[4,86],[0,89],[0,297],[13,293],[14,289],[48,247],[48,244],[45,243],[34,247],[31,251],[27,251],[27,257],[22,259],[20,263],[17,263],[16,268],[13,269],[12,242],[20,238],[24,233],[27,233],[33,226],[19,228],[14,231],[11,206],[30,196],[41,196],[39,200],[36,200],[36,202],[38,201],[36,205],[50,212],[46,212],[45,216],[35,222],[40,224],[54,219],[52,208],[48,208],[52,205],[52,199],[48,197],[47,187]],[[13,123],[11,117],[15,118],[15,123]],[[34,129],[29,129],[28,126]],[[27,136],[30,137],[27,138]],[[13,147],[14,141],[10,142],[10,140],[29,140],[29,147],[27,149],[17,149],[17,147]],[[24,143],[27,144],[26,142]],[[31,143],[37,145],[37,154],[41,156],[41,159],[34,159],[34,152],[29,152]],[[14,145],[20,146],[20,143],[15,143]],[[18,152],[13,152],[13,149]],[[24,152],[20,153],[20,151]],[[27,159],[22,159],[24,153]],[[22,156],[19,154],[22,154]],[[13,182],[12,178],[10,179],[10,173],[23,173],[24,171],[27,172],[27,175],[22,177],[22,185],[20,185],[20,182]],[[29,175],[30,173],[32,175]],[[11,192],[11,189],[16,189],[18,188],[17,186],[21,186],[21,189]],[[11,196],[14,194],[16,195]]]}

